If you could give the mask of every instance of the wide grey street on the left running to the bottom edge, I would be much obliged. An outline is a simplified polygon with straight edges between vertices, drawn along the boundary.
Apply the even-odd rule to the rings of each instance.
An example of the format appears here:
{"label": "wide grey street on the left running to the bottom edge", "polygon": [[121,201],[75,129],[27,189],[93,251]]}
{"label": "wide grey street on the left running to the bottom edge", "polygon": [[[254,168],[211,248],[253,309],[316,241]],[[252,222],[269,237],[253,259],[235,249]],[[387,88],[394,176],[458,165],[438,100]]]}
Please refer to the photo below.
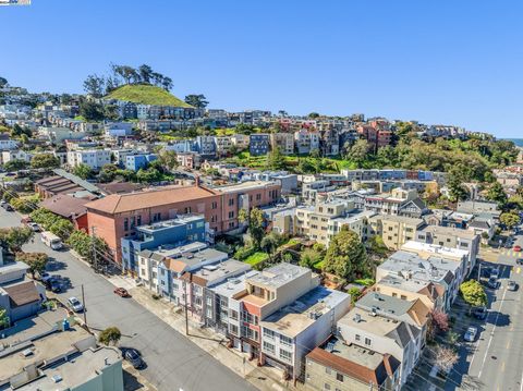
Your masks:
{"label": "wide grey street on the left running to the bottom edge", "polygon": [[[14,225],[20,225],[20,215],[0,208],[0,228]],[[49,265],[52,273],[70,281],[66,291],[61,293],[64,300],[70,296],[81,298],[81,285],[84,284],[89,327],[118,326],[123,334],[120,345],[142,352],[147,363],[143,375],[159,390],[254,390],[248,382],[132,298],[114,295],[110,282],[68,252],[50,249],[40,242],[39,235],[35,236],[34,243],[25,245],[24,251],[45,252],[53,258]]]}

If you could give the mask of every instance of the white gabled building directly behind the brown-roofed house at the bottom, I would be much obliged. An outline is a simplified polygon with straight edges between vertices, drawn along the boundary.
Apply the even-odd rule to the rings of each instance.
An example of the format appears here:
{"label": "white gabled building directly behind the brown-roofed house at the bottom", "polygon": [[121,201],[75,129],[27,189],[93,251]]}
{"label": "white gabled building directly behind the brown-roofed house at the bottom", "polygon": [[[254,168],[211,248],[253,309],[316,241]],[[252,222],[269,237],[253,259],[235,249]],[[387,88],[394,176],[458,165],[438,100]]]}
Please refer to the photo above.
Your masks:
{"label": "white gabled building directly behind the brown-roofed house at the bottom", "polygon": [[400,363],[400,387],[406,382],[422,353],[418,328],[358,307],[338,321],[338,330],[345,344],[394,357]]}

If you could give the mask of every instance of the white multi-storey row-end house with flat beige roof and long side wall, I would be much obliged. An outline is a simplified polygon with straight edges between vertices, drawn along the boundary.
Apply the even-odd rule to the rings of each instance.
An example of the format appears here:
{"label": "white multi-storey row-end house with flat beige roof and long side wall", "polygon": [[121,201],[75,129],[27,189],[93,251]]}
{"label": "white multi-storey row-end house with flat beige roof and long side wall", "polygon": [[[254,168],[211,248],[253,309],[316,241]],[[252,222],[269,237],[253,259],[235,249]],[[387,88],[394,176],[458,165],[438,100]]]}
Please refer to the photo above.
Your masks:
{"label": "white multi-storey row-end house with flat beige roof and long side wall", "polygon": [[305,356],[332,332],[332,325],[349,311],[346,293],[317,286],[263,319],[263,364],[281,368],[292,379],[303,377]]}

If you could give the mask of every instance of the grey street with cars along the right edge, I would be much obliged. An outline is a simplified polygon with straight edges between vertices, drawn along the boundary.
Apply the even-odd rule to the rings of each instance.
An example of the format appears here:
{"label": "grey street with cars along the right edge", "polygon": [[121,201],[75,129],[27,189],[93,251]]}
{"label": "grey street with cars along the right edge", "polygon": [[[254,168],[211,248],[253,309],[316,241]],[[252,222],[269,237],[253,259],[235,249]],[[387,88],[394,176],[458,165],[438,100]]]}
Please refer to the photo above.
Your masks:
{"label": "grey street with cars along the right edge", "polygon": [[[515,243],[523,246],[523,236],[519,235]],[[487,289],[487,319],[458,318],[462,331],[474,325],[481,333],[476,342],[460,346],[462,359],[451,371],[447,390],[466,388],[462,381],[463,374],[467,374],[465,379],[472,379],[470,383],[474,384],[471,389],[523,391],[523,267],[515,264],[518,256],[512,251],[503,251],[496,262],[489,264],[499,268],[501,278],[497,290]],[[518,291],[507,290],[509,280],[519,284]]]}

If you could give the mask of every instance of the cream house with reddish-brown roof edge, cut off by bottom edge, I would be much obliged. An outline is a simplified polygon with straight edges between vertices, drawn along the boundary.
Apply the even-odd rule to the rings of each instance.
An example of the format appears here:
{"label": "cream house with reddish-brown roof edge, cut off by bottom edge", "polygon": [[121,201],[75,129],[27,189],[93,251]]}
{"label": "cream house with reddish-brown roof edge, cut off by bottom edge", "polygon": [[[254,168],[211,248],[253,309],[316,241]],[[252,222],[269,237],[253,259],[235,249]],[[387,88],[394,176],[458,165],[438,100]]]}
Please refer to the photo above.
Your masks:
{"label": "cream house with reddish-brown roof edge, cut off by bottom edge", "polygon": [[313,390],[398,391],[401,363],[331,337],[306,356],[305,384]]}

